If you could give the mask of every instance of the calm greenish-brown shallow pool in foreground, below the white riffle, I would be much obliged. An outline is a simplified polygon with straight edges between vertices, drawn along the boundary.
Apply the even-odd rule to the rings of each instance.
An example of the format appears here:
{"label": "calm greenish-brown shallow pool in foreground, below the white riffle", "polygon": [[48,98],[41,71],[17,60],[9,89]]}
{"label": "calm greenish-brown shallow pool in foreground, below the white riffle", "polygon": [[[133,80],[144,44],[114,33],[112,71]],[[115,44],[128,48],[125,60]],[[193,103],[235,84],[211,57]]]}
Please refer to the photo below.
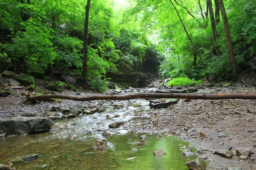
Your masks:
{"label": "calm greenish-brown shallow pool in foreground, below the white riffle", "polygon": [[[193,157],[182,157],[183,146],[173,136],[156,137],[145,134],[144,146],[137,146],[144,134],[113,134],[106,137],[108,147],[94,150],[92,145],[100,135],[73,139],[52,139],[51,133],[32,134],[0,139],[0,163],[7,164],[11,158],[39,151],[39,158],[13,163],[16,170],[188,170],[186,161]],[[29,142],[29,145],[27,144]],[[58,147],[52,147],[58,144]],[[86,148],[84,150],[80,148]],[[163,149],[165,156],[154,156],[154,151]]]}

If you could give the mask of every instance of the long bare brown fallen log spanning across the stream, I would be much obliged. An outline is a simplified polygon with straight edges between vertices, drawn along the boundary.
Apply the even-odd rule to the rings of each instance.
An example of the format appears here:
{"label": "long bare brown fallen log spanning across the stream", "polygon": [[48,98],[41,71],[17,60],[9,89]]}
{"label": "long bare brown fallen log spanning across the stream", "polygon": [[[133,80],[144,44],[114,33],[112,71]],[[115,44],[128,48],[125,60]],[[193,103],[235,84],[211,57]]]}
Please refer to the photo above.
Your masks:
{"label": "long bare brown fallen log spanning across the stream", "polygon": [[140,99],[140,98],[173,98],[173,99],[256,99],[256,94],[155,94],[155,93],[142,93],[142,94],[130,94],[124,96],[87,96],[87,97],[75,97],[68,95],[58,94],[47,94],[40,96],[30,96],[29,94],[22,94],[26,96],[26,102],[35,102],[41,99],[68,99],[75,101],[92,101],[92,100],[129,100],[129,99]]}

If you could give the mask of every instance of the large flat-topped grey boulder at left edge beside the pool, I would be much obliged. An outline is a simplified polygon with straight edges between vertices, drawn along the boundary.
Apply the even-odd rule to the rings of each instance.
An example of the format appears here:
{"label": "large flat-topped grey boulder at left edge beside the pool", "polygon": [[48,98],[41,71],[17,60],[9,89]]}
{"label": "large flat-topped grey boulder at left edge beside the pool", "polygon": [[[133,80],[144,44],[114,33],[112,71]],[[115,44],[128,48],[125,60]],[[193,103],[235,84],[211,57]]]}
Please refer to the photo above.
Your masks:
{"label": "large flat-topped grey boulder at left edge beside the pool", "polygon": [[7,135],[21,135],[23,133],[39,133],[49,130],[53,125],[46,117],[11,117],[0,119],[0,128]]}

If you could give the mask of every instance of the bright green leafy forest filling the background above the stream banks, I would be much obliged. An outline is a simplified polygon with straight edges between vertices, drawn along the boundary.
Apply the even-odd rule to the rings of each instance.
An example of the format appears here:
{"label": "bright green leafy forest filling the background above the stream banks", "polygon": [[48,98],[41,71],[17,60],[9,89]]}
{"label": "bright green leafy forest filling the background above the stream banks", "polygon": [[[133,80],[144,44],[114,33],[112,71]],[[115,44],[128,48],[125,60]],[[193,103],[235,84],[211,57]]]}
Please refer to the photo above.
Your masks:
{"label": "bright green leafy forest filling the background above the stream banks", "polygon": [[[29,74],[30,66],[38,65],[46,73],[75,75],[96,91],[107,88],[106,80],[121,83],[120,77],[127,76],[132,79],[129,86],[145,87],[140,83],[145,72],[236,81],[244,71],[255,74],[255,3],[1,0],[1,72]],[[48,80],[47,74],[43,79]]]}

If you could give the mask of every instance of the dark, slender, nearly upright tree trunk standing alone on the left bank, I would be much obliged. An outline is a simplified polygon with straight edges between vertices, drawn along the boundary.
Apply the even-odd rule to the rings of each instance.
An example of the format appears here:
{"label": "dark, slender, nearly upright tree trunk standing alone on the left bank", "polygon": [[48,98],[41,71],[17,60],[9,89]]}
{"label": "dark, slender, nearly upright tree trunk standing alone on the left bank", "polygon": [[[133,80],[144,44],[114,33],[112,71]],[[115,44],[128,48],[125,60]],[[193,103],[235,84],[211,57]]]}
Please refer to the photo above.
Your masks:
{"label": "dark, slender, nearly upright tree trunk standing alone on the left bank", "polygon": [[83,82],[87,82],[87,40],[88,40],[88,21],[89,21],[89,10],[90,10],[90,0],[87,0],[85,6],[85,19],[84,19],[84,43],[83,43]]}

